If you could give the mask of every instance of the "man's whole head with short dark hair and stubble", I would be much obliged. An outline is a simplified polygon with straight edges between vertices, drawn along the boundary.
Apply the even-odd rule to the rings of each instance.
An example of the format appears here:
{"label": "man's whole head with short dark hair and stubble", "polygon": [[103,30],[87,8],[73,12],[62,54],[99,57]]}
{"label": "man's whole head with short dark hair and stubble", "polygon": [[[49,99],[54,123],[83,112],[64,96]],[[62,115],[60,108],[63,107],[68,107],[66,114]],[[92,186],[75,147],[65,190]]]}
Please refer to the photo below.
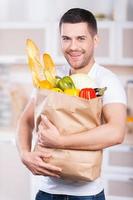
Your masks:
{"label": "man's whole head with short dark hair and stubble", "polygon": [[59,23],[61,46],[65,58],[73,69],[89,69],[94,63],[97,45],[97,23],[94,15],[85,9],[68,10]]}

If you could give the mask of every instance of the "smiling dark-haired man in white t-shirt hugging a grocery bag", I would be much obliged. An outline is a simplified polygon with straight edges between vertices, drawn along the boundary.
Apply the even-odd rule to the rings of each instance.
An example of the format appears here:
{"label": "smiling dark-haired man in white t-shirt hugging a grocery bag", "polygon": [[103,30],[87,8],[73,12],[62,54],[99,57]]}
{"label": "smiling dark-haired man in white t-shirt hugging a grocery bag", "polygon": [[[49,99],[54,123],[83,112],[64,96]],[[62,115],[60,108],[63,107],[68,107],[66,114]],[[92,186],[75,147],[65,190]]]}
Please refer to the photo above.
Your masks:
{"label": "smiling dark-haired man in white t-shirt hugging a grocery bag", "polygon": [[[126,97],[117,77],[95,63],[94,49],[98,43],[95,17],[84,9],[70,9],[60,20],[60,37],[63,54],[70,64],[69,73],[86,73],[97,81],[98,87],[108,88],[103,97],[106,123],[64,137],[59,135],[57,128],[47,118],[42,117],[40,144],[49,148],[82,150],[99,150],[120,144],[125,134]],[[85,183],[63,180],[60,178],[60,168],[42,161],[43,157],[51,156],[45,148],[41,152],[31,151],[34,102],[34,98],[31,98],[19,120],[17,144],[22,162],[33,174],[42,175],[36,200],[104,200],[101,177]]]}

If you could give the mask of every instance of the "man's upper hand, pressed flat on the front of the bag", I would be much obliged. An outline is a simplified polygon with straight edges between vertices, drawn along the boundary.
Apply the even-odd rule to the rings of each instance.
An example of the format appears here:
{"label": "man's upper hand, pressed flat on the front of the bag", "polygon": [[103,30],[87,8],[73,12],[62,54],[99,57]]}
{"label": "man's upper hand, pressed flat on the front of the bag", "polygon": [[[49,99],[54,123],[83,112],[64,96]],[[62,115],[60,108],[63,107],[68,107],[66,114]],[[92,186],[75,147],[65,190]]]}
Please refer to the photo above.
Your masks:
{"label": "man's upper hand, pressed flat on the front of the bag", "polygon": [[58,129],[44,115],[39,125],[38,144],[42,147],[60,148],[62,136]]}

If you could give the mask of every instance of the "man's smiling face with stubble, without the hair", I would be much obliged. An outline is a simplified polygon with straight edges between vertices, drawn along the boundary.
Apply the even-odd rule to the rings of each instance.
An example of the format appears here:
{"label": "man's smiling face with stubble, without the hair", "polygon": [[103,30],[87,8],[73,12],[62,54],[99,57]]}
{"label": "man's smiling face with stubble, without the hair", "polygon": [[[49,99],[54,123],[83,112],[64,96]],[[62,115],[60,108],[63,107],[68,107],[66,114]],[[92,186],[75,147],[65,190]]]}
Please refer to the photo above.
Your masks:
{"label": "man's smiling face with stubble, without the hair", "polygon": [[86,67],[93,58],[96,35],[89,32],[87,23],[63,23],[60,30],[63,54],[74,69]]}

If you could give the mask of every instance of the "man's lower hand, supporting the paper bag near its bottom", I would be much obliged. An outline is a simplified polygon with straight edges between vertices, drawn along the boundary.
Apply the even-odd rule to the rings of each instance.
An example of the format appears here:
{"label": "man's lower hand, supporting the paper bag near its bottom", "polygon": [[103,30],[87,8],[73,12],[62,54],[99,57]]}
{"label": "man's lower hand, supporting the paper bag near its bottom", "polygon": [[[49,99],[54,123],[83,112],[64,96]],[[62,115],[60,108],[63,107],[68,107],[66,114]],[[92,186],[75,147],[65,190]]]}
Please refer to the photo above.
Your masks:
{"label": "man's lower hand, supporting the paper bag near its bottom", "polygon": [[50,157],[51,154],[46,149],[36,152],[25,151],[21,155],[22,162],[34,175],[52,176],[59,178],[61,169],[45,162]]}

